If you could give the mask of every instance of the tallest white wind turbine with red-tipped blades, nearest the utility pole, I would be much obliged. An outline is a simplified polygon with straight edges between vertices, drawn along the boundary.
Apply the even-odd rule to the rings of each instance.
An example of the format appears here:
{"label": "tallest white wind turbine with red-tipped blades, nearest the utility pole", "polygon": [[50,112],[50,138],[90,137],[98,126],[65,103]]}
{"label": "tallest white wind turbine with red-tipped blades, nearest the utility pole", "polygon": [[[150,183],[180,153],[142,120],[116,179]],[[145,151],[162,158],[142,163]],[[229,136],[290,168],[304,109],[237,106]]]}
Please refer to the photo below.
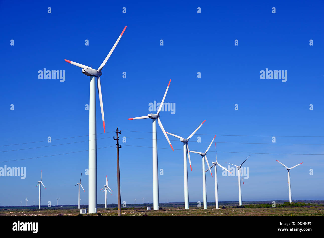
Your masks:
{"label": "tallest white wind turbine with red-tipped blades, nearest the utility pole", "polygon": [[[127,26],[126,26],[127,27]],[[96,82],[95,77],[97,77],[97,87],[99,94],[99,102],[101,108],[102,124],[103,130],[105,132],[105,118],[103,113],[102,104],[102,94],[101,94],[101,84],[100,75],[101,70],[105,66],[107,60],[109,59],[111,53],[117,46],[122,34],[124,33],[126,27],[121,32],[114,46],[111,48],[106,59],[99,66],[98,70],[94,70],[89,66],[79,64],[70,60],[65,60],[75,66],[82,68],[82,73],[90,76],[90,100],[89,100],[89,213],[97,213],[97,125],[96,125]]]}

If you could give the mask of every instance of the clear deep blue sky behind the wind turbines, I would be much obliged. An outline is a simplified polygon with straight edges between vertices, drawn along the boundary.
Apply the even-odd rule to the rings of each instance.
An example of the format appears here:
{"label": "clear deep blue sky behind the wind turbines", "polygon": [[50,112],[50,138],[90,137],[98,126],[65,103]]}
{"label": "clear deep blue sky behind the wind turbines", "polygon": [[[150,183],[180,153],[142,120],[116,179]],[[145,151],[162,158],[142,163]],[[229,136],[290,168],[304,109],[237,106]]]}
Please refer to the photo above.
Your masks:
{"label": "clear deep blue sky behind the wind turbines", "polygon": [[[217,134],[221,165],[240,164],[251,154],[244,164],[249,167],[249,179],[242,185],[242,200],[288,200],[287,172],[276,159],[288,167],[303,162],[291,170],[293,200],[324,199],[320,189],[324,146],[280,145],[324,144],[324,137],[319,137],[324,135],[322,1],[17,4],[0,3],[0,167],[26,167],[26,179],[0,177],[0,205],[19,205],[26,196],[29,204],[34,200],[37,203],[35,186],[40,170],[47,188],[42,190],[42,205],[48,201],[56,204],[56,197],[60,204],[77,204],[74,185],[81,172],[86,190],[81,199],[87,204],[88,152],[71,152],[88,149],[87,136],[83,135],[88,135],[85,104],[89,103],[89,77],[64,59],[97,69],[125,26],[124,35],[102,70],[105,134],[96,92],[97,147],[112,146],[97,151],[98,203],[104,203],[100,189],[106,175],[113,190],[108,203],[117,202],[116,148],[112,139],[117,126],[121,136],[126,136],[126,143],[120,141],[121,201],[133,203],[136,198],[141,202],[141,197],[153,200],[152,149],[136,147],[152,146],[151,120],[127,118],[150,113],[148,104],[161,101],[169,79],[165,102],[176,107],[175,114],[160,114],[166,131],[189,136],[206,120],[191,138],[191,150],[205,151]],[[48,7],[52,8],[51,14],[47,13]],[[122,13],[123,7],[126,14]],[[201,7],[201,14],[197,7]],[[275,14],[272,7],[276,7]],[[14,46],[10,45],[11,39]],[[85,45],[86,39],[89,46]],[[238,46],[234,45],[236,39]],[[309,45],[310,39],[313,46]],[[65,70],[65,81],[38,79],[38,70],[43,68]],[[266,68],[287,70],[287,81],[260,79],[260,70]],[[122,78],[123,72],[126,78]],[[197,72],[201,72],[201,78],[197,78]],[[234,110],[235,104],[238,111]],[[312,111],[309,104],[313,104]],[[158,147],[166,148],[158,149],[158,168],[163,169],[163,175],[159,175],[160,202],[183,201],[182,143],[170,137],[174,140],[172,152],[160,128],[157,132]],[[52,137],[51,144],[47,143],[48,136]],[[197,142],[198,136],[201,143]],[[272,143],[272,136],[276,136],[276,143]],[[62,139],[68,137],[73,138]],[[37,141],[43,142],[29,143]],[[4,146],[21,143],[29,144]],[[41,146],[47,147],[20,150]],[[7,150],[14,151],[2,152]],[[214,151],[212,146],[210,164],[215,159]],[[42,157],[64,153],[70,154]],[[33,157],[42,158],[19,160]],[[189,201],[202,201],[201,156],[192,154],[191,161]],[[218,168],[219,200],[237,201],[237,177],[225,177],[221,172]],[[209,173],[206,183],[207,200],[214,201],[214,178]]]}

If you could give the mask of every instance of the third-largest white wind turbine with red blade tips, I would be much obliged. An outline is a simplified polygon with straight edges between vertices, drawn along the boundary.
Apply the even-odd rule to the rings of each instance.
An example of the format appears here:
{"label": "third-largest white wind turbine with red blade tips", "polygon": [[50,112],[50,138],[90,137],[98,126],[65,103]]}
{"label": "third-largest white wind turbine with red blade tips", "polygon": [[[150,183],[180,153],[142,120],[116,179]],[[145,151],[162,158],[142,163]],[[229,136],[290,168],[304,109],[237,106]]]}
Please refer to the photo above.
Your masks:
{"label": "third-largest white wind turbine with red blade tips", "polygon": [[[174,135],[170,132],[166,132],[167,134],[169,135],[173,135],[177,138],[180,139],[180,141],[183,143],[183,180],[184,180],[184,209],[189,209],[189,192],[188,192],[188,165],[187,165],[187,155],[188,155],[188,158],[189,158],[189,164],[190,164],[190,169],[192,171],[192,168],[191,168],[191,161],[190,161],[190,154],[189,154],[189,146],[188,146],[188,142],[189,142],[189,139],[198,131],[198,129],[204,124],[206,120],[203,121],[202,124],[200,124],[198,126],[198,128],[196,130],[194,130],[194,132],[192,132],[192,134],[187,138],[182,138],[181,136],[179,135]],[[205,169],[204,169],[205,171]]]}

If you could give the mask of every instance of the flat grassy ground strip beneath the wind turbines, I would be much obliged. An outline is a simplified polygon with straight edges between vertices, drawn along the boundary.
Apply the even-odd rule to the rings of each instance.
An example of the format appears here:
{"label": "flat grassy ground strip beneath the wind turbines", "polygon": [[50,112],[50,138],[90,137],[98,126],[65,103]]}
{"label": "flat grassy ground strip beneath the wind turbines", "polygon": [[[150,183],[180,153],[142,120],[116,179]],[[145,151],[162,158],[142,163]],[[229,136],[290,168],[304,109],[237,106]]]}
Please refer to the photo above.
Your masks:
{"label": "flat grassy ground strip beneath the wind turbines", "polygon": [[[101,216],[117,216],[117,210],[106,210],[99,208],[98,213]],[[77,216],[80,214],[79,209],[42,209],[42,210],[24,210],[24,209],[7,209],[0,210],[0,216]],[[123,216],[323,216],[324,207],[277,207],[277,208],[227,208],[215,209],[208,207],[207,210],[190,208],[189,210],[179,210],[173,207],[167,207],[163,210],[144,209],[122,210]],[[84,216],[98,216],[98,214],[83,214]]]}

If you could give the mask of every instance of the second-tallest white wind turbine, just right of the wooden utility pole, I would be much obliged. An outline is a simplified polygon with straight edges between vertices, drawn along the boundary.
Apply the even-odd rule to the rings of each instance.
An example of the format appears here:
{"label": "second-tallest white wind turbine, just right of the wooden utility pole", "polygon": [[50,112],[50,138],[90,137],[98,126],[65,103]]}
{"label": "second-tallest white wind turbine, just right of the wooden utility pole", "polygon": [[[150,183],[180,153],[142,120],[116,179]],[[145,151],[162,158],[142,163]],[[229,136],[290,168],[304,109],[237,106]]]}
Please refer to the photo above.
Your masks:
{"label": "second-tallest white wind turbine, just right of the wooden utility pole", "polygon": [[160,113],[160,111],[162,109],[165,96],[167,95],[167,92],[168,92],[168,89],[169,89],[169,86],[170,86],[170,82],[171,82],[171,79],[169,81],[167,90],[164,93],[162,102],[161,102],[160,107],[157,110],[157,113],[156,114],[152,114],[151,113],[151,114],[148,114],[147,116],[139,116],[139,117],[134,117],[134,118],[128,118],[128,120],[146,119],[146,118],[151,118],[152,119],[152,142],[153,142],[152,143],[152,156],[153,156],[153,209],[154,210],[159,210],[159,179],[158,179],[158,168],[157,168],[156,120],[157,120],[157,122],[158,122],[158,124],[159,124],[159,126],[160,126],[160,128],[161,128],[161,130],[163,132],[163,134],[167,138],[168,143],[171,146],[172,151],[173,151],[173,147],[172,147],[172,145],[170,143],[170,140],[168,138],[168,135],[165,132],[165,130],[163,128],[163,125],[161,123],[161,120],[159,118],[160,117],[159,113]]}

